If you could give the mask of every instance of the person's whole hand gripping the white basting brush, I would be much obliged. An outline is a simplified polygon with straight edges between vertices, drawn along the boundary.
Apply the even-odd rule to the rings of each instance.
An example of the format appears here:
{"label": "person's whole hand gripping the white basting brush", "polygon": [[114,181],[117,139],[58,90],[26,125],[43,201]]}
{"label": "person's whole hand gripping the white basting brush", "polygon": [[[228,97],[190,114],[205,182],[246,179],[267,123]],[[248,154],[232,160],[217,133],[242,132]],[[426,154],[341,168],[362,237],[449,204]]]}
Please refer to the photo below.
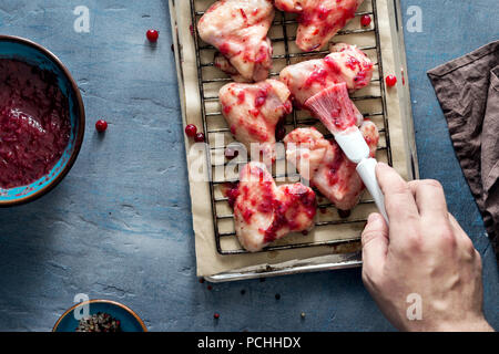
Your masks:
{"label": "person's whole hand gripping the white basting brush", "polygon": [[[480,254],[448,212],[441,185],[406,183],[386,164],[376,174],[389,228],[379,214],[369,216],[363,281],[381,312],[403,331],[492,331],[482,312]],[[418,300],[414,319],[408,309]]]}

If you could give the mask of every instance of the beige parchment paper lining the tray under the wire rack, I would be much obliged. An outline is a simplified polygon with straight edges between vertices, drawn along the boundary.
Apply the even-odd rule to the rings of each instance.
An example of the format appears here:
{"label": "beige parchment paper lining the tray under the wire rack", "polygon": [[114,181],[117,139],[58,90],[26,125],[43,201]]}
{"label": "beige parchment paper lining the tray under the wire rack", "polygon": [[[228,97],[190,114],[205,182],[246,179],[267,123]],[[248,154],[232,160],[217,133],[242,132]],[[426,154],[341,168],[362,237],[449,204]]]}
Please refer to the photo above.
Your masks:
{"label": "beige parchment paper lining the tray under the wire rack", "polygon": [[[195,1],[195,7],[197,11],[204,11],[213,3],[214,0],[197,0]],[[389,122],[389,138],[391,146],[393,166],[405,177],[413,178],[410,154],[414,154],[411,147],[414,146],[414,133],[411,131],[411,122],[407,122],[407,107],[403,106],[403,86],[401,86],[401,63],[399,53],[395,53],[394,46],[398,45],[398,42],[393,40],[391,33],[394,33],[395,20],[394,20],[394,9],[393,4],[389,4],[387,0],[377,0],[378,7],[378,22],[379,22],[379,37],[381,42],[381,55],[383,55],[383,69],[384,74],[396,74],[398,76],[398,88],[393,87],[386,90],[386,102],[387,102],[387,117]],[[371,1],[366,0],[358,11],[369,11],[371,9]],[[203,126],[202,122],[202,111],[201,111],[201,100],[198,90],[198,76],[196,69],[196,52],[194,46],[194,39],[191,33],[191,25],[195,23],[191,22],[191,3],[187,0],[170,0],[170,10],[172,12],[172,25],[173,35],[175,43],[175,53],[177,59],[177,70],[179,70],[179,86],[180,96],[182,101],[183,110],[183,123],[195,124],[197,127]],[[391,13],[391,14],[390,14]],[[281,19],[282,13],[277,11],[276,20]],[[288,15],[286,15],[288,19]],[[346,29],[358,29],[359,17],[354,19]],[[296,27],[288,25],[288,35],[295,35]],[[272,38],[282,38],[283,31],[281,27],[273,28],[269,32]],[[363,34],[349,34],[349,35],[337,35],[333,39],[334,42],[347,42],[352,44],[357,44],[359,48],[369,46],[376,44],[375,33],[363,33]],[[289,41],[289,51],[295,53],[299,52],[294,42]],[[397,49],[398,50],[398,49]],[[274,43],[274,55],[284,54],[284,43]],[[376,50],[367,50],[366,53],[376,63]],[[398,55],[398,56],[397,56]],[[324,56],[324,55],[322,55]],[[309,58],[306,58],[307,60]],[[201,54],[201,61],[208,63],[213,61],[213,52],[203,51]],[[292,59],[292,63],[301,61],[299,59]],[[397,65],[395,63],[398,63]],[[278,73],[281,69],[286,65],[285,59],[278,59],[274,61],[274,73]],[[217,69],[207,66],[203,67],[203,77],[226,77]],[[374,75],[374,80],[379,79],[378,73]],[[383,77],[381,77],[383,80]],[[205,97],[216,96],[218,88],[225,84],[213,83],[204,85]],[[407,83],[406,83],[407,84]],[[379,95],[380,92],[379,82],[373,83],[370,86],[365,87],[354,94],[354,96],[363,95]],[[357,106],[363,113],[366,112],[381,112],[381,101],[363,101],[356,102]],[[220,112],[218,102],[216,100],[206,102],[206,112]],[[307,114],[301,112],[299,117],[306,117]],[[404,117],[404,118],[403,118]],[[370,117],[379,128],[388,128],[384,126],[381,116]],[[224,128],[226,127],[225,121],[222,116],[211,116],[210,117],[210,129],[213,128]],[[319,123],[315,125],[323,133],[325,133],[324,127]],[[230,134],[226,136],[227,140],[232,140]],[[225,142],[226,144],[226,142]],[[192,140],[185,139],[185,148],[187,152],[187,166],[191,170],[194,164],[193,162],[200,157],[198,154],[191,153]],[[214,146],[214,143],[211,142]],[[386,135],[381,134],[380,146],[386,146]],[[223,148],[217,150],[223,154]],[[222,156],[213,156],[213,160],[218,160],[223,158]],[[377,155],[378,160],[387,160],[387,150],[379,150]],[[213,162],[212,162],[213,163]],[[414,163],[413,163],[414,164]],[[216,176],[215,176],[216,179]],[[191,200],[192,200],[192,214],[193,214],[193,226],[195,232],[195,247],[196,247],[196,261],[197,261],[197,275],[198,277],[210,277],[214,274],[220,274],[223,272],[231,272],[236,270],[263,270],[267,266],[279,267],[285,264],[286,267],[293,267],[293,264],[304,264],[307,260],[312,264],[319,262],[327,262],[328,256],[330,260],[337,259],[338,253],[354,252],[359,250],[359,242],[354,241],[347,244],[338,244],[335,247],[310,247],[310,248],[298,248],[293,250],[283,251],[267,251],[254,254],[236,254],[236,256],[222,256],[216,250],[214,225],[212,219],[212,200],[210,195],[210,184],[206,181],[195,181],[191,178],[190,173],[190,186],[191,186]],[[220,190],[215,190],[215,197],[222,197]],[[370,199],[370,196],[366,192],[363,200]],[[319,204],[327,204],[328,201],[319,198]],[[218,215],[231,215],[226,202],[216,202]],[[376,211],[376,207],[371,204],[360,204],[355,208],[349,217],[350,220],[363,220],[367,216]],[[339,216],[334,208],[329,208],[327,212],[317,212],[318,221],[322,220],[340,220]],[[288,243],[302,243],[310,241],[327,241],[327,240],[350,240],[359,239],[360,232],[364,228],[364,222],[355,223],[344,223],[327,227],[317,227],[310,231],[307,236],[291,235],[283,240],[277,241],[277,244],[288,244]],[[232,219],[223,220],[220,225],[221,231],[233,231]],[[236,237],[224,237],[222,238],[222,248],[224,250],[237,250],[241,249]]]}

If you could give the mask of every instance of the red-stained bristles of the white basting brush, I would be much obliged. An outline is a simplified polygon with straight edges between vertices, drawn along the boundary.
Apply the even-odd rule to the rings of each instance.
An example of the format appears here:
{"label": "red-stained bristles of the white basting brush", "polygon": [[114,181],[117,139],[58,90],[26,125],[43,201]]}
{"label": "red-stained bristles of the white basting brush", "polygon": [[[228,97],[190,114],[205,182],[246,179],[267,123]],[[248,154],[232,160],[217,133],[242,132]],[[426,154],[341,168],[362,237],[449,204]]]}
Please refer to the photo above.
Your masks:
{"label": "red-stained bristles of the white basting brush", "polygon": [[346,83],[320,91],[305,102],[305,107],[333,134],[344,132],[357,122],[358,111],[348,96]]}

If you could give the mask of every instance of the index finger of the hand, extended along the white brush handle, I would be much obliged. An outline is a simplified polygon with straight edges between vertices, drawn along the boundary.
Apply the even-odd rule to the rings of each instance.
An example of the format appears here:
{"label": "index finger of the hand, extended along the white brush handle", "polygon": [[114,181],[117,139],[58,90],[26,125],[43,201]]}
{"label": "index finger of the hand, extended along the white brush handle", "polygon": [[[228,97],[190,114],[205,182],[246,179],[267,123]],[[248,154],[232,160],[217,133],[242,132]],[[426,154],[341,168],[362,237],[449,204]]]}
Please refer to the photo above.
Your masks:
{"label": "index finger of the hand, extended along the white brush handle", "polygon": [[385,195],[385,206],[390,228],[407,231],[407,225],[419,217],[418,208],[409,185],[386,164],[376,167],[379,187]]}

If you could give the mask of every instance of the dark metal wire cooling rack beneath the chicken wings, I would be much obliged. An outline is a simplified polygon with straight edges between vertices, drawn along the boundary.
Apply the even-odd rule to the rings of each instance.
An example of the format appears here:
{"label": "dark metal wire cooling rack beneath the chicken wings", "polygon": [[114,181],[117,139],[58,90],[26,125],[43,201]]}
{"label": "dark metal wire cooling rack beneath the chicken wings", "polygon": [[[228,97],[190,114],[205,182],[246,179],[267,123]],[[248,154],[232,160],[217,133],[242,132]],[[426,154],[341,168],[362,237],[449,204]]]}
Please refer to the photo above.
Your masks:
{"label": "dark metal wire cooling rack beneath the chicken wings", "polygon": [[[208,104],[216,103],[218,101],[217,95],[206,95],[205,86],[208,84],[225,84],[228,82],[232,82],[230,77],[227,77],[222,72],[218,73],[217,77],[212,77],[212,75],[206,75],[204,69],[214,66],[213,61],[206,62],[202,60],[203,52],[210,51],[213,52],[214,48],[212,45],[208,45],[204,43],[197,32],[197,22],[200,18],[204,14],[204,11],[196,10],[196,3],[200,2],[200,0],[190,0],[191,1],[191,20],[192,20],[192,34],[194,37],[194,45],[196,51],[196,65],[197,65],[197,79],[198,79],[198,90],[200,90],[200,97],[201,97],[201,113],[203,118],[203,128],[206,136],[206,143],[210,146],[210,149],[207,149],[206,158],[207,158],[207,166],[211,166],[212,168],[216,167],[216,165],[213,163],[212,159],[212,153],[214,150],[222,150],[225,149],[224,146],[212,146],[210,144],[210,134],[213,133],[230,133],[230,128],[227,126],[225,127],[216,127],[213,128],[210,125],[210,119],[214,117],[222,116],[222,113],[220,111],[213,111],[207,112],[208,110],[206,106]],[[206,2],[206,1],[204,1]],[[377,112],[363,112],[365,117],[380,118],[380,122],[383,123],[383,127],[378,126],[380,134],[384,134],[385,136],[385,146],[378,147],[378,154],[379,152],[386,154],[386,160],[389,165],[391,165],[391,147],[390,147],[390,139],[389,139],[389,128],[388,128],[388,119],[386,116],[386,96],[385,96],[385,83],[384,83],[384,74],[383,74],[383,61],[381,61],[381,50],[380,50],[380,39],[379,39],[379,29],[378,29],[378,15],[377,15],[377,7],[376,7],[376,0],[368,0],[365,1],[365,3],[370,2],[370,7],[366,6],[365,8],[369,8],[368,11],[358,11],[356,13],[356,17],[360,17],[364,14],[368,14],[373,17],[373,24],[369,28],[358,28],[358,29],[344,29],[337,33],[338,35],[356,35],[356,34],[364,34],[364,33],[371,33],[375,38],[375,44],[374,45],[365,45],[365,46],[358,46],[363,51],[375,51],[375,66],[377,66],[378,76],[377,79],[373,79],[371,84],[376,86],[379,90],[379,94],[370,94],[370,95],[354,95],[352,100],[357,104],[363,101],[379,101],[380,110]],[[292,31],[289,29],[289,25],[296,25],[297,20],[296,17],[288,13],[282,13],[277,11],[279,14],[276,15],[276,19],[273,22],[273,29],[279,28],[282,35],[278,35],[277,38],[272,38],[273,45],[276,43],[283,43],[284,44],[284,53],[282,54],[275,54],[273,55],[273,60],[284,60],[286,65],[293,64],[294,60],[304,59],[306,60],[308,56],[316,56],[316,55],[326,55],[329,53],[329,51],[319,51],[319,52],[313,52],[313,53],[304,53],[298,50],[294,52],[292,50],[293,42],[295,41],[295,37],[289,35],[289,33],[294,33],[295,31]],[[335,37],[335,38],[336,38]],[[334,38],[334,39],[335,39]],[[213,54],[212,54],[213,58]],[[278,72],[272,72],[272,76],[278,76]],[[291,115],[291,119],[286,118],[286,126],[291,128],[297,128],[302,126],[309,126],[317,123],[315,118],[306,117],[301,118],[298,116],[298,111],[294,110],[294,112]],[[327,137],[327,136],[326,136]],[[379,157],[379,156],[378,156]],[[225,163],[226,164],[226,163]],[[227,183],[227,181],[234,181],[234,180],[213,180],[213,169],[208,168],[208,177],[210,177],[210,195],[211,195],[211,201],[212,201],[212,216],[213,216],[213,223],[215,228],[215,238],[216,238],[216,248],[217,252],[220,254],[241,254],[241,253],[247,253],[244,249],[224,249],[222,247],[222,238],[227,237],[235,237],[235,231],[223,231],[221,230],[221,222],[233,220],[234,216],[230,212],[220,212],[218,211],[218,204],[227,204],[226,197],[216,196],[215,189],[221,184]],[[274,178],[278,177],[274,174]],[[319,192],[316,190],[317,195],[319,196]],[[373,200],[361,200],[360,205],[371,205],[374,204]],[[327,208],[334,208],[332,204],[319,204],[319,209],[327,209]],[[326,221],[316,221],[315,227],[324,227],[324,226],[334,226],[334,225],[344,225],[344,223],[364,223],[366,222],[366,218],[344,218],[339,220],[326,220]],[[284,244],[276,244],[265,248],[263,251],[276,251],[276,250],[288,250],[288,249],[296,249],[296,248],[306,248],[306,247],[320,247],[320,246],[336,246],[339,243],[350,243],[350,242],[357,242],[359,240],[359,237],[349,238],[349,239],[342,239],[342,240],[326,240],[326,241],[309,241],[309,242],[299,242],[299,243],[284,243]]]}

